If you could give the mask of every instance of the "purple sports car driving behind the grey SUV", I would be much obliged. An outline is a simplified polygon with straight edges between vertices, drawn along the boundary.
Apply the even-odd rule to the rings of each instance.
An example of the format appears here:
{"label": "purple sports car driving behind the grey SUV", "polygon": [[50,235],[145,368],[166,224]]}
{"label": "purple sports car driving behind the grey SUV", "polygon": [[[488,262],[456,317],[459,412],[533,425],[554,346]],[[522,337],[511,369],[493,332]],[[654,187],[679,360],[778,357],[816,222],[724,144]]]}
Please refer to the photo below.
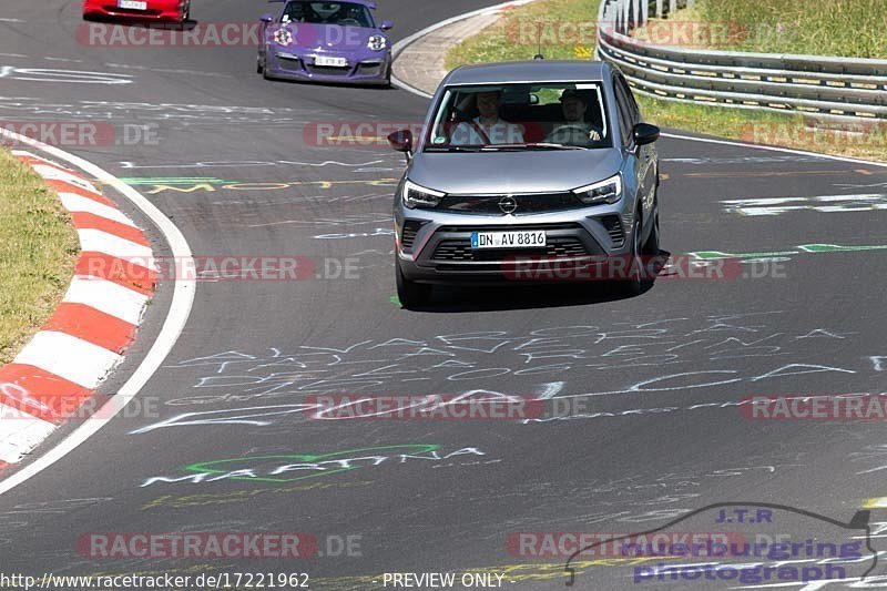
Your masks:
{"label": "purple sports car driving behind the grey SUV", "polygon": [[[282,1],[282,0],[273,0]],[[266,79],[388,85],[391,44],[370,0],[283,0],[279,18],[262,17],[258,73]]]}

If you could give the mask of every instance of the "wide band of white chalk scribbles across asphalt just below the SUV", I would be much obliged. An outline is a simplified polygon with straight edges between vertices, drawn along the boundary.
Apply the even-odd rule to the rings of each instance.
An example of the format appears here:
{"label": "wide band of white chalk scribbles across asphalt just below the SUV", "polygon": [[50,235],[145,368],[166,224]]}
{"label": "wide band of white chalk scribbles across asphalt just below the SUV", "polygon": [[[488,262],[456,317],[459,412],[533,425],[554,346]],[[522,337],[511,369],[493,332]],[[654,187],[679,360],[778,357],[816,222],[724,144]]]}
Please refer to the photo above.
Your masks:
{"label": "wide band of white chalk scribbles across asphalt just below the SUV", "polygon": [[[528,333],[488,330],[305,344],[294,350],[232,349],[167,365],[169,369],[204,370],[193,384],[200,396],[167,405],[264,401],[300,394],[378,391],[380,387],[390,393],[405,385],[416,391],[416,383],[421,381],[452,383],[449,394],[466,381],[498,391],[503,376],[564,381],[569,387],[570,375],[578,370],[609,371],[610,381],[618,385],[583,395],[757,384],[806,373],[857,373],[835,365],[823,347],[826,340],[848,343],[855,333],[824,325],[781,327],[779,318],[778,312],[759,312]],[[796,357],[804,363],[793,363]],[[765,365],[753,370],[737,363],[748,358],[759,358]],[[682,364],[692,367],[682,368]],[[630,376],[620,378],[619,370]]]}

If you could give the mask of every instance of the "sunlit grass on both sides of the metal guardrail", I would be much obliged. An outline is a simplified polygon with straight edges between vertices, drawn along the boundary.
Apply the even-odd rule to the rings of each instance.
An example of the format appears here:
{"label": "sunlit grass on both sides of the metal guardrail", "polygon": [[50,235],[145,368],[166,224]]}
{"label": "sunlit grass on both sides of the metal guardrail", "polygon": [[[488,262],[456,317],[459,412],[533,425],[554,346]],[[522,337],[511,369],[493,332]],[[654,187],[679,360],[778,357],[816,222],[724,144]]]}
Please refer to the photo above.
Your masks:
{"label": "sunlit grass on both sides of the metal guardrail", "polygon": [[[533,27],[542,33],[546,58],[590,59],[594,39],[584,31],[597,18],[597,8],[590,0],[537,0],[514,8],[452,48],[446,58],[447,68],[530,59],[537,47],[528,42],[527,38],[531,41],[533,35],[527,31]],[[764,24],[755,26],[758,9]],[[842,18],[833,22],[836,16]],[[735,49],[744,51],[887,55],[887,35],[875,34],[876,29],[887,26],[887,0],[697,0],[694,8],[676,12],[674,19],[742,23],[750,33],[731,39],[738,41]],[[578,32],[570,34],[572,29],[564,28],[564,23],[575,24]],[[777,24],[782,24],[782,32],[787,27],[794,32],[774,44],[765,33],[767,27],[776,31]],[[842,31],[838,34],[834,29]],[[861,134],[814,134],[799,114],[681,103],[640,93],[636,96],[644,119],[663,128],[887,162],[887,125],[864,128]],[[857,125],[861,124],[849,124],[852,129]]]}

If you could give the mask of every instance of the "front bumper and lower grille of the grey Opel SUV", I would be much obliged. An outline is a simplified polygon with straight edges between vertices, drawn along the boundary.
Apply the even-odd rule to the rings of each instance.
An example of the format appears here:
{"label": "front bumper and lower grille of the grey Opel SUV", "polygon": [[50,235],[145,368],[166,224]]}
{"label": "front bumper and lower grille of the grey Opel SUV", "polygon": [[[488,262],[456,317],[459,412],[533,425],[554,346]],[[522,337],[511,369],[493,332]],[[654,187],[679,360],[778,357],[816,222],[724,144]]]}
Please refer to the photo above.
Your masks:
{"label": "front bumper and lower grille of the grey Opel SUV", "polygon": [[[631,211],[631,210],[629,210]],[[557,268],[564,276],[594,278],[589,266],[626,257],[633,215],[620,204],[523,216],[478,216],[400,207],[395,216],[398,265],[420,283],[544,281],[529,268]],[[472,232],[543,230],[537,248],[472,249]]]}

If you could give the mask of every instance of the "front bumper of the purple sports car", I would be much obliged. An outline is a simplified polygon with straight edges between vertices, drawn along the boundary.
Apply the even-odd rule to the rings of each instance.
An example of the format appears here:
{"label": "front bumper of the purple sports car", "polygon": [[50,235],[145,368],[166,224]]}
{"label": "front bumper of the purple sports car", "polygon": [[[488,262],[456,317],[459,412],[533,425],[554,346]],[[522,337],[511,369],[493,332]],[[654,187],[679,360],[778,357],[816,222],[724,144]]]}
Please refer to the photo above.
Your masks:
{"label": "front bumper of the purple sports car", "polygon": [[[269,51],[265,69],[271,78],[281,80],[313,80],[351,84],[387,84],[391,55],[347,58],[348,65],[333,68],[315,65],[315,55],[288,51]],[[344,55],[343,55],[344,57]]]}

